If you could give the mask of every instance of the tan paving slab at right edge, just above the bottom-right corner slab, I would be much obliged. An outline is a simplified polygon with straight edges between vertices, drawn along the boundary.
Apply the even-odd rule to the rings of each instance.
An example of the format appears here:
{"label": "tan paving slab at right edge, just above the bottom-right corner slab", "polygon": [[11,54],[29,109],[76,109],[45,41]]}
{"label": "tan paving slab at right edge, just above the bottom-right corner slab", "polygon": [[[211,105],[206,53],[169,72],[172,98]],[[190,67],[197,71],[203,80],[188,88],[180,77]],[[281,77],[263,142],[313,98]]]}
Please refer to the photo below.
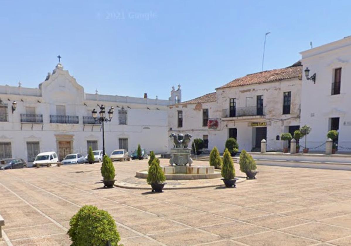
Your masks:
{"label": "tan paving slab at right edge, just above the bottom-right corner slab", "polygon": [[350,229],[320,224],[318,222],[311,222],[310,224],[299,225],[283,229],[282,231],[323,242],[351,235]]}

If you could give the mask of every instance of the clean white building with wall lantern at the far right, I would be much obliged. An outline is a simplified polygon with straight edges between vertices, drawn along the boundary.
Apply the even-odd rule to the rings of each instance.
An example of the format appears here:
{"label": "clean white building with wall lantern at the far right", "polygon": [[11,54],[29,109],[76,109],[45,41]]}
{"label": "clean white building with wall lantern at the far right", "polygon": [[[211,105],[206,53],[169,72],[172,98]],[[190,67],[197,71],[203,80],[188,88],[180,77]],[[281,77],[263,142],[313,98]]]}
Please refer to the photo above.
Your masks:
{"label": "clean white building with wall lantern at the far right", "polygon": [[[326,141],[329,130],[338,130],[338,151],[351,150],[351,37],[301,52],[303,71],[301,125],[312,127],[307,147]],[[325,146],[313,150],[324,151]]]}

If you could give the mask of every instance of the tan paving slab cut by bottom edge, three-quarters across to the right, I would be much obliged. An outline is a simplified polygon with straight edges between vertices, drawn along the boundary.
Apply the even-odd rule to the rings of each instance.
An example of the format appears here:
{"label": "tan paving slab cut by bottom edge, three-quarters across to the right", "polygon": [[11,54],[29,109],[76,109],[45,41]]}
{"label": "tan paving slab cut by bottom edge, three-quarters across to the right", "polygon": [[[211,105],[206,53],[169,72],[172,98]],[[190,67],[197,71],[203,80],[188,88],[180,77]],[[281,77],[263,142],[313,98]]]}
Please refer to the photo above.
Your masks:
{"label": "tan paving slab cut by bottom edge, three-quarters across to the right", "polygon": [[237,238],[235,240],[250,246],[307,246],[318,242],[276,231]]}

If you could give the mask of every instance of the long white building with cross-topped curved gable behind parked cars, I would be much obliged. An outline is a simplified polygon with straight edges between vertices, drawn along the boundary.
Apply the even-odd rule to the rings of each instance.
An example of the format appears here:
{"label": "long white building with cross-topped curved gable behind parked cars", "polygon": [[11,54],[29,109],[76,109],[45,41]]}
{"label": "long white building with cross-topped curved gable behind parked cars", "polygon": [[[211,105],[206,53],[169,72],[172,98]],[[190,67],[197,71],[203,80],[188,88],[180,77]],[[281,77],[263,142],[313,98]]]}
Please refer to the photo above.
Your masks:
{"label": "long white building with cross-topped curved gable behind parked cars", "polygon": [[[145,98],[146,97],[146,98]],[[180,102],[181,90],[168,100],[88,94],[59,63],[39,88],[0,86],[0,159],[22,158],[56,151],[62,159],[69,153],[102,149],[101,125],[92,118],[98,105],[115,108],[105,124],[106,153],[114,149],[133,151],[138,144],[148,151],[168,151],[168,105]],[[12,102],[17,107],[12,111]],[[107,111],[106,110],[106,111]]]}

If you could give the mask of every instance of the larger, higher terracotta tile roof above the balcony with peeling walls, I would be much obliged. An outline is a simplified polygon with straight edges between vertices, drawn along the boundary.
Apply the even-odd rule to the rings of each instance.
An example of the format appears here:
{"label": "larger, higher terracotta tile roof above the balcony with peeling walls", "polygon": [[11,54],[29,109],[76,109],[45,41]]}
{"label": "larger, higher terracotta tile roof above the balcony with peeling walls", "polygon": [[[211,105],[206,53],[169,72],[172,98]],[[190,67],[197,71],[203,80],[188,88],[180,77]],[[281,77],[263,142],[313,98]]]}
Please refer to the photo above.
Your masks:
{"label": "larger, higher terracotta tile roof above the balcony with peeling walls", "polygon": [[254,85],[261,84],[265,82],[272,82],[283,79],[301,78],[302,76],[302,66],[293,65],[291,67],[273,69],[269,71],[263,71],[259,73],[247,74],[244,77],[234,79],[228,84],[218,87],[217,89],[244,86],[244,85]]}

